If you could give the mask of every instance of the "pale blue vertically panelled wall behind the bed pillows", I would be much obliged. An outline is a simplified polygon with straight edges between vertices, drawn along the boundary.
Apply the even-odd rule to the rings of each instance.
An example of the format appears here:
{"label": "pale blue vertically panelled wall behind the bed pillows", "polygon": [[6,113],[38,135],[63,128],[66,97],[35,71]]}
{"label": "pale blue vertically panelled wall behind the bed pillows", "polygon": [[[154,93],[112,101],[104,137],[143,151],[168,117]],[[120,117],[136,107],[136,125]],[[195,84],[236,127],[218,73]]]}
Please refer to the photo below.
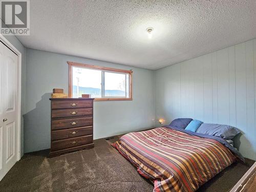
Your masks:
{"label": "pale blue vertically panelled wall behind the bed pillows", "polygon": [[241,130],[235,143],[256,160],[256,39],[155,71],[156,119],[190,117]]}

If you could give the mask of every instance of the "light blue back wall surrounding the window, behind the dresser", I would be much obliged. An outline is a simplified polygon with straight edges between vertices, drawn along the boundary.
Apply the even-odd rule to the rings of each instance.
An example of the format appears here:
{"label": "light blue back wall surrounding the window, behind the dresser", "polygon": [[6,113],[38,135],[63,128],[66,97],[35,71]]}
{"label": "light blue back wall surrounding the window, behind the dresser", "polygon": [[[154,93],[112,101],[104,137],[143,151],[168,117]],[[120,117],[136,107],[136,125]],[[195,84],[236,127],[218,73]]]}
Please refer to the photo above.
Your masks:
{"label": "light blue back wall surrounding the window, behind the dresser", "polygon": [[153,71],[27,49],[25,152],[50,148],[49,98],[53,88],[68,93],[67,61],[133,70],[132,101],[94,102],[94,139],[154,126]]}

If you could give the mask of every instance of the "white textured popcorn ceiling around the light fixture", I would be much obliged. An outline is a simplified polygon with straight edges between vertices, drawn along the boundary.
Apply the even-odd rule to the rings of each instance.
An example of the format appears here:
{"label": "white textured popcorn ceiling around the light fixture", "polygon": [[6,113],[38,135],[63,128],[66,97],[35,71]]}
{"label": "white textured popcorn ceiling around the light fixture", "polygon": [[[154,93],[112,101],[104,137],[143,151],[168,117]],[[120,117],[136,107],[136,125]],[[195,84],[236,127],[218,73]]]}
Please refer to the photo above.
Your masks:
{"label": "white textured popcorn ceiling around the light fixture", "polygon": [[33,0],[30,10],[25,47],[145,69],[256,37],[255,0]]}

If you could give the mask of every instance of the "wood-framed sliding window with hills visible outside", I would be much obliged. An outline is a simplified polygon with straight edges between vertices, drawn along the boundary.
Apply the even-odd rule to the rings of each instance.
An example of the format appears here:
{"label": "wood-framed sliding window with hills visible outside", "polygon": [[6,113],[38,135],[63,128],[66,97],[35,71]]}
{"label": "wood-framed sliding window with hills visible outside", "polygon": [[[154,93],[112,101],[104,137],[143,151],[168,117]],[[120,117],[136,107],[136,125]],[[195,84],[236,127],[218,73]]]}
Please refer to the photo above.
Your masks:
{"label": "wood-framed sliding window with hills visible outside", "polygon": [[69,97],[91,94],[99,101],[132,100],[132,70],[69,64]]}

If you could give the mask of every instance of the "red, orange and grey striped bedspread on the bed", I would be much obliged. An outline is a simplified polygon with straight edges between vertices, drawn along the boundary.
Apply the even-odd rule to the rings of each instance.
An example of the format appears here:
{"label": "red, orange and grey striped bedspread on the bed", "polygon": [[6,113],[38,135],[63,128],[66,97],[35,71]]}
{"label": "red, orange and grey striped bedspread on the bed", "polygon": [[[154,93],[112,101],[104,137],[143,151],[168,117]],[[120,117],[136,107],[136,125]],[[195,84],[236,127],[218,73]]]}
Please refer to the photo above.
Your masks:
{"label": "red, orange and grey striped bedspread on the bed", "polygon": [[214,139],[159,127],[123,135],[112,146],[154,182],[154,191],[195,191],[236,161]]}

